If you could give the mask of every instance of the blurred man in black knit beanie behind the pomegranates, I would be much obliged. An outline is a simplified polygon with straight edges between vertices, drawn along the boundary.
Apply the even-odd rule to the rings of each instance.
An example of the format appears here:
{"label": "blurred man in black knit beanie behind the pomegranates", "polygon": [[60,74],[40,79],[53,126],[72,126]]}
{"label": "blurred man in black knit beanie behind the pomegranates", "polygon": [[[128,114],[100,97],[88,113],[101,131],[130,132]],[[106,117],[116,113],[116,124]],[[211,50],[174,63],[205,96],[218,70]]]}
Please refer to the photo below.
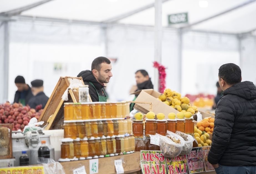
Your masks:
{"label": "blurred man in black knit beanie behind the pomegranates", "polygon": [[20,75],[15,78],[14,83],[18,88],[14,96],[14,103],[20,102],[23,106],[26,106],[29,99],[33,97],[30,86],[26,84],[24,77]]}

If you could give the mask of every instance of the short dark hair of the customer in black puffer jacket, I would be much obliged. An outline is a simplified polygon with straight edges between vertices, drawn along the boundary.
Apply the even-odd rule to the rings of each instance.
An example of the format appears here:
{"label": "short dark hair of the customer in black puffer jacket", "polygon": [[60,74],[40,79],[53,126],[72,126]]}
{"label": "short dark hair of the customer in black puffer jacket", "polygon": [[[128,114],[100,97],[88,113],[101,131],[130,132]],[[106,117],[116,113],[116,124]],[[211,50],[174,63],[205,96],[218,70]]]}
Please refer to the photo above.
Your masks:
{"label": "short dark hair of the customer in black puffer jacket", "polygon": [[235,85],[241,82],[241,69],[236,64],[224,64],[219,68],[219,79],[223,79],[227,85]]}

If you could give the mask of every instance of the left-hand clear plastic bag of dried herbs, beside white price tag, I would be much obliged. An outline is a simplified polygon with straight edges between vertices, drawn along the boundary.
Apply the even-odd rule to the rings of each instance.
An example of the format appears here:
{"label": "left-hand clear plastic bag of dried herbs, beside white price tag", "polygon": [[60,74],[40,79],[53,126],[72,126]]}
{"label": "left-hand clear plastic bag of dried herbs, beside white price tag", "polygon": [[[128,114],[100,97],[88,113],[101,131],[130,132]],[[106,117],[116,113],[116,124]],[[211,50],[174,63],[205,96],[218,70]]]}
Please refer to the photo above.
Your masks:
{"label": "left-hand clear plastic bag of dried herbs, beside white price tag", "polygon": [[[159,135],[159,134],[156,133],[156,135]],[[181,153],[182,148],[184,146],[184,140],[181,139],[180,136],[178,136],[177,134],[174,135],[176,140],[180,139],[181,143],[179,144],[174,143],[171,139],[167,138],[166,136],[159,135],[159,137],[160,137],[159,147],[164,157],[173,158],[178,156]]]}

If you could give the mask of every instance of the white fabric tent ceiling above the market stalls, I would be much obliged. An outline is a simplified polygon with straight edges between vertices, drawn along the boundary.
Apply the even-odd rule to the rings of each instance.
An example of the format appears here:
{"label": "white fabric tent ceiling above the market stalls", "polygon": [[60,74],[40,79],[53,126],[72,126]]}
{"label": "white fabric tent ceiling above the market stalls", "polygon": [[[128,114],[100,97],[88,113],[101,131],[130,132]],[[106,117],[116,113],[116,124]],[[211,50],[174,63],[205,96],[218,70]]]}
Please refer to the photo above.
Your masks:
{"label": "white fabric tent ceiling above the market stalls", "polygon": [[[166,0],[165,0],[166,1]],[[255,0],[207,0],[208,7],[199,7],[199,0],[167,0],[163,2],[162,23],[168,27],[168,14],[188,12],[189,23],[208,19],[234,7],[241,6],[189,29],[222,33],[245,33],[256,29]],[[39,0],[1,0],[0,13],[40,2]],[[242,4],[247,5],[242,6]],[[105,22],[116,17],[152,5],[133,15],[117,20],[121,24],[154,25],[154,0],[52,0],[22,12],[22,16],[46,17],[54,19]],[[14,18],[16,19],[16,18]],[[188,24],[169,27],[186,27]]]}

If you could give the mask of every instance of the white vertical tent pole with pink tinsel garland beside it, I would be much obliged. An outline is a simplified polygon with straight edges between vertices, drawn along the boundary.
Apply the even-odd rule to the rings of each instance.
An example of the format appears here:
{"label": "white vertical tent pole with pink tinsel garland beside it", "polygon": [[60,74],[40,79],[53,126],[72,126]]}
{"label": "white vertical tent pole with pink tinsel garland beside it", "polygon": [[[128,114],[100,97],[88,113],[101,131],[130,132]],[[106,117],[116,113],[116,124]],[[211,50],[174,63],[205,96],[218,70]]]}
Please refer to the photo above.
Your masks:
{"label": "white vertical tent pole with pink tinsel garland beside it", "polygon": [[[162,0],[155,0],[155,27],[154,27],[154,61],[161,64],[162,59]],[[154,90],[159,91],[159,72],[154,69]]]}

